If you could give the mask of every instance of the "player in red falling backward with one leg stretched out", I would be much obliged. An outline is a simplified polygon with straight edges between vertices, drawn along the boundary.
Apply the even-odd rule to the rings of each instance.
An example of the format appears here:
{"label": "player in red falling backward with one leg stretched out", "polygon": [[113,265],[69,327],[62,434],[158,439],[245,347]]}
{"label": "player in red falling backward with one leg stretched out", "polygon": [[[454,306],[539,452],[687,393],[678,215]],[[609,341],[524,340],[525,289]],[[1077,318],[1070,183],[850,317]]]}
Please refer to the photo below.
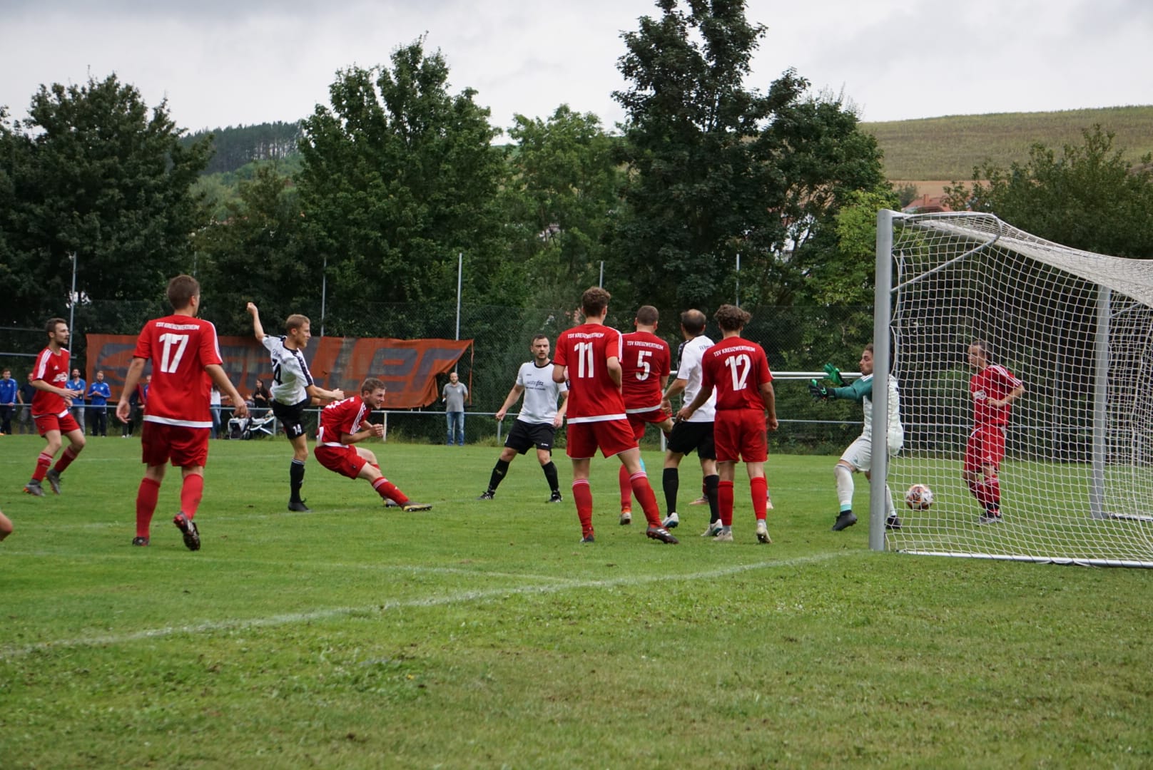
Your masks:
{"label": "player in red falling backward with one leg stretched out", "polygon": [[380,475],[380,466],[371,451],[353,446],[366,438],[383,438],[384,425],[367,422],[368,413],[384,405],[384,383],[369,377],[361,383],[360,395],[330,403],[321,410],[321,429],[312,453],[317,462],[348,478],[363,478],[385,503],[392,500],[405,512],[428,511],[432,506],[413,503]]}

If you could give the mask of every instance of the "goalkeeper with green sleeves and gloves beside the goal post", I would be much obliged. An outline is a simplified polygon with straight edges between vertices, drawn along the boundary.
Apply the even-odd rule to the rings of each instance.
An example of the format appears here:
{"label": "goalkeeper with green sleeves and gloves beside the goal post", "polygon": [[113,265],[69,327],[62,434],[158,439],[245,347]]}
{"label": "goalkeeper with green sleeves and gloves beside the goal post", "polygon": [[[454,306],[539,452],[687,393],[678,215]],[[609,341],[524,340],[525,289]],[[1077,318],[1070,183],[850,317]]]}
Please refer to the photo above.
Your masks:
{"label": "goalkeeper with green sleeves and gloves beside the goal post", "polygon": [[[861,471],[865,478],[872,482],[869,468],[873,461],[873,344],[865,346],[860,360],[861,377],[846,385],[841,377],[841,372],[831,363],[824,365],[828,378],[832,380],[834,387],[819,384],[815,379],[809,380],[808,391],[817,401],[829,399],[852,399],[860,401],[865,407],[865,430],[849,445],[841,460],[832,469],[832,475],[837,481],[837,501],[841,509],[837,520],[832,524],[832,531],[841,531],[857,523],[853,514],[853,474]],[[900,397],[897,392],[897,380],[889,378],[889,431],[887,436],[889,454],[896,454],[905,443],[905,429],[900,424]],[[884,489],[884,499],[888,505],[886,518],[886,529],[900,529],[900,519],[892,505],[892,492],[888,484]]]}

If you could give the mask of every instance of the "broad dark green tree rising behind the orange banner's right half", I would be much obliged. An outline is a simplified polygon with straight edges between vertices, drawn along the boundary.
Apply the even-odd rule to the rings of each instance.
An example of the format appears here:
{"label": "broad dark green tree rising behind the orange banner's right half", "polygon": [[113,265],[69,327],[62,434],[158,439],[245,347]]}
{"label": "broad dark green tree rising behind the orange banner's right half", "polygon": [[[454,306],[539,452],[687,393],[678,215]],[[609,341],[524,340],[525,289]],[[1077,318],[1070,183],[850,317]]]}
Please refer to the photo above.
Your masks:
{"label": "broad dark green tree rising behind the orange banner's right half", "polygon": [[332,107],[304,120],[306,226],[329,257],[330,297],[348,324],[369,301],[450,301],[458,254],[470,301],[519,299],[508,297],[518,284],[503,264],[498,131],[476,92],[451,96],[447,78],[444,56],[425,55],[420,39],[393,52],[391,68],[342,70]]}

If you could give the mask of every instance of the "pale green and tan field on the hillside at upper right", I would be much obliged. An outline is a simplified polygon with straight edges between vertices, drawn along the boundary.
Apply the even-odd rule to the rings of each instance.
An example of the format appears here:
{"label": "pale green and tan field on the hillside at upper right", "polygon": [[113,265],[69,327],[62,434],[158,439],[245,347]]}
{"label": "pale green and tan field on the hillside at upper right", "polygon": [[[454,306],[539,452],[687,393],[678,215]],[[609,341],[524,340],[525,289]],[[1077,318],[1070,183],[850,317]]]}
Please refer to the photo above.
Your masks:
{"label": "pale green and tan field on the hillside at upper right", "polygon": [[1100,124],[1116,134],[1114,146],[1137,163],[1153,152],[1153,105],[1016,112],[990,115],[949,115],[887,123],[861,123],[884,152],[884,174],[891,180],[963,181],[986,163],[1008,168],[1028,159],[1035,143],[1060,151],[1082,143],[1082,130]]}

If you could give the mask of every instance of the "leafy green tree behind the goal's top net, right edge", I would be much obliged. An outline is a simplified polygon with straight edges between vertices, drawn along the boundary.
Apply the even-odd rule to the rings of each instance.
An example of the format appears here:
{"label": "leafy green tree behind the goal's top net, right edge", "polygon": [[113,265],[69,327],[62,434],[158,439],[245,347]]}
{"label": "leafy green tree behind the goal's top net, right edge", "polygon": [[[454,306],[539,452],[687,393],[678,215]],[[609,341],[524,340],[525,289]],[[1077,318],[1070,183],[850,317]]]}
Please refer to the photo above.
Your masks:
{"label": "leafy green tree behind the goal's top net, right edge", "polygon": [[[945,188],[954,210],[996,214],[1015,227],[1075,249],[1118,257],[1153,257],[1153,159],[1138,165],[1113,149],[1101,126],[1060,153],[1034,144],[1028,160],[1008,169],[973,168],[973,184]],[[984,181],[982,181],[984,180]]]}

